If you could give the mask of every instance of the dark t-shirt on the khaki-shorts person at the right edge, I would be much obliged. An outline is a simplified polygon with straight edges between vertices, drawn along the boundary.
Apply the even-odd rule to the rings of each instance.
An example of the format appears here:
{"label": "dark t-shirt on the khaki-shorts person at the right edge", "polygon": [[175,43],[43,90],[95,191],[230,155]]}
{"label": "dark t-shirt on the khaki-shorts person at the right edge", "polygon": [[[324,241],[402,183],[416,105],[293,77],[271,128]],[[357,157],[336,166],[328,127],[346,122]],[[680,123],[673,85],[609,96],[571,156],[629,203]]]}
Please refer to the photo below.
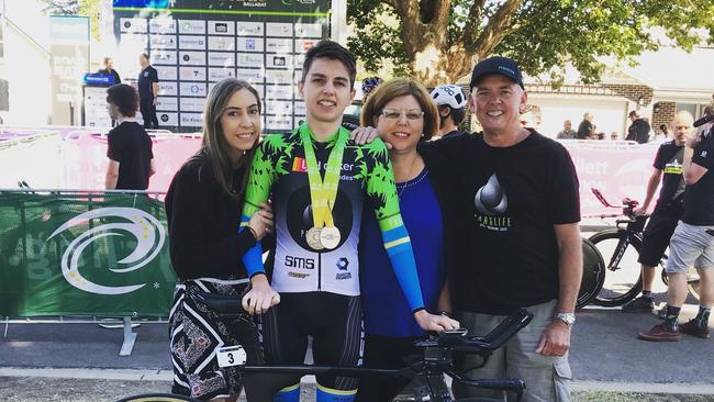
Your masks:
{"label": "dark t-shirt on the khaki-shorts person at the right edge", "polygon": [[687,186],[684,216],[690,225],[714,225],[714,130],[694,148],[692,164],[709,169],[699,181]]}

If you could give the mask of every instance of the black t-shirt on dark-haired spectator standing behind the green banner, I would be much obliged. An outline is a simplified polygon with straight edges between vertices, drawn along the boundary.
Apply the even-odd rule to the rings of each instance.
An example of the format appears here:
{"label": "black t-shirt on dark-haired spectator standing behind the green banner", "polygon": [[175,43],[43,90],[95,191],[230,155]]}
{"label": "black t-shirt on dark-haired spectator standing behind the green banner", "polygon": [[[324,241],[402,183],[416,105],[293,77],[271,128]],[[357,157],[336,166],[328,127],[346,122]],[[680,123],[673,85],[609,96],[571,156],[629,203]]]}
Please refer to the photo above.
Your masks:
{"label": "black t-shirt on dark-haired spectator standing behind the green banner", "polygon": [[152,138],[136,122],[123,122],[109,132],[107,157],[119,161],[116,190],[146,190],[154,153]]}

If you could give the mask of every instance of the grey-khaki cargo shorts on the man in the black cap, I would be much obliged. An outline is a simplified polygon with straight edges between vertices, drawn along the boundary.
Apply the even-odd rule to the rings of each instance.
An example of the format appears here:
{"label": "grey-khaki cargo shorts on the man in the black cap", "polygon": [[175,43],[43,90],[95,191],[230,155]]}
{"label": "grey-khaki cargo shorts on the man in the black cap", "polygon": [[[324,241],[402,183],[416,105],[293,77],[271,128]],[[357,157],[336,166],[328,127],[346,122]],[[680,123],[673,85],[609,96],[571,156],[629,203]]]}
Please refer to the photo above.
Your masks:
{"label": "grey-khaki cargo shorts on the man in the black cap", "polygon": [[[502,348],[495,350],[487,365],[480,369],[466,371],[470,378],[520,378],[525,381],[523,402],[568,402],[569,383],[572,379],[568,355],[549,357],[536,354],[540,335],[553,322],[556,301],[527,308],[534,313],[533,321]],[[493,330],[505,316],[462,312],[459,316],[461,326],[469,330],[469,335],[484,335]],[[467,356],[461,368],[473,367],[480,362],[479,357]],[[479,397],[505,400],[503,392],[464,387],[457,381],[451,384],[457,398]],[[510,393],[509,401],[515,400]]]}

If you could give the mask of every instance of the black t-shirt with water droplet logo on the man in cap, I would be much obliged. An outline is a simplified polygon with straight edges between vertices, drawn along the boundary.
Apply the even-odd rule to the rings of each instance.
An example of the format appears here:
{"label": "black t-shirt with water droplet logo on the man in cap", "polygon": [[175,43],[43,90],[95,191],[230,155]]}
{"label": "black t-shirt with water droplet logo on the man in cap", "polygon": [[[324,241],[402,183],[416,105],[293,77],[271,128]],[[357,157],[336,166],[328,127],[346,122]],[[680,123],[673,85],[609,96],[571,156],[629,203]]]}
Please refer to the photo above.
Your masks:
{"label": "black t-shirt with water droplet logo on the man in cap", "polygon": [[509,314],[558,298],[554,225],[580,221],[578,177],[559,143],[531,130],[511,147],[481,135],[427,144],[455,164],[453,209],[462,227],[449,281],[457,309]]}

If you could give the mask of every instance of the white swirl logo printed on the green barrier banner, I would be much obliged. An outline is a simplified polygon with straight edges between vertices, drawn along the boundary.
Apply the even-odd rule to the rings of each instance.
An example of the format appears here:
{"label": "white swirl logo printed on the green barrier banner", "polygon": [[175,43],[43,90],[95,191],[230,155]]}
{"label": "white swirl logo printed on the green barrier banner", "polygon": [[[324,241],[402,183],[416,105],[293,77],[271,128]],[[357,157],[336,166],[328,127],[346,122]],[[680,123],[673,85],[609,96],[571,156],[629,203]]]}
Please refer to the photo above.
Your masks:
{"label": "white swirl logo printed on the green barrier banner", "polygon": [[49,235],[47,241],[71,227],[88,225],[89,222],[93,226],[89,225],[87,231],[77,235],[63,253],[60,266],[65,280],[77,289],[98,294],[124,294],[146,286],[146,283],[137,283],[113,287],[94,283],[79,271],[80,260],[86,248],[103,237],[130,237],[129,241],[133,239],[136,245],[126,257],[116,261],[123,267],[108,269],[115,273],[135,271],[149,264],[161,250],[166,241],[161,223],[148,213],[134,208],[100,208],[65,222]]}

